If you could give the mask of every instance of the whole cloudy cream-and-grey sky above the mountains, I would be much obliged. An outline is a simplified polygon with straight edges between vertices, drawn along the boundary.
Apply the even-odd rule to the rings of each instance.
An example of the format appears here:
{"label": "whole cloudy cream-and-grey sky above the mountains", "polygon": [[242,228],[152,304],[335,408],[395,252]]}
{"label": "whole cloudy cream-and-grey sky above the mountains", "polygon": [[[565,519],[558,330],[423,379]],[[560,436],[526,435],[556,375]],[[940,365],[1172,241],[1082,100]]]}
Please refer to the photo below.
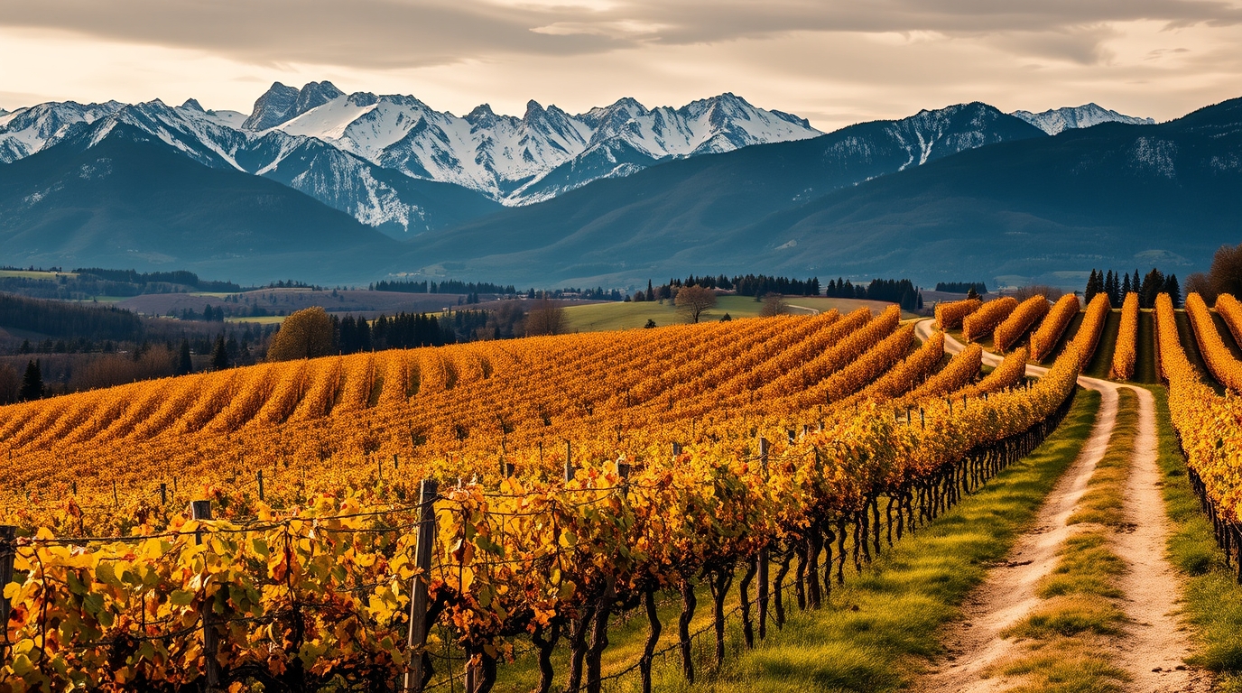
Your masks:
{"label": "whole cloudy cream-and-grey sky above the mountains", "polygon": [[1242,96],[1242,0],[0,0],[0,108],[273,81],[468,112],[734,92],[820,129],[985,101],[1167,119]]}

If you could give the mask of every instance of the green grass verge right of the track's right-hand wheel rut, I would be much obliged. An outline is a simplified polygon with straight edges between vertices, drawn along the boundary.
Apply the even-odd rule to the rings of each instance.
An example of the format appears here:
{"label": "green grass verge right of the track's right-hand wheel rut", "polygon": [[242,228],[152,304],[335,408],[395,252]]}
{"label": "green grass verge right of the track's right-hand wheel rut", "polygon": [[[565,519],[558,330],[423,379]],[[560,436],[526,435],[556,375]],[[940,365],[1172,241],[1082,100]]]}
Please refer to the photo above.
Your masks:
{"label": "green grass verge right of the track's right-hand wheel rut", "polygon": [[1225,565],[1212,524],[1200,509],[1177,448],[1164,387],[1149,387],[1156,399],[1160,489],[1171,523],[1169,559],[1182,582],[1182,616],[1194,633],[1190,663],[1217,672],[1222,692],[1242,692],[1242,585],[1237,566]]}

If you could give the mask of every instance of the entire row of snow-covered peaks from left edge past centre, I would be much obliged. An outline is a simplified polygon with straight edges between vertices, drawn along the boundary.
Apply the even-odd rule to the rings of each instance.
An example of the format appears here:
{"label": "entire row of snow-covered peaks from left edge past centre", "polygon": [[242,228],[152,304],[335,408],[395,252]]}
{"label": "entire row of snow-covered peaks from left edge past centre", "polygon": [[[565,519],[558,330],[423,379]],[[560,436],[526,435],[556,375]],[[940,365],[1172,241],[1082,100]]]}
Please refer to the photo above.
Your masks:
{"label": "entire row of snow-covered peaks from left edge past centre", "polygon": [[[195,99],[123,104],[52,102],[0,116],[0,161],[29,156],[89,128],[148,132],[195,161],[279,180],[396,237],[507,205],[529,204],[668,158],[820,133],[733,94],[679,109],[633,99],[570,116],[530,102],[522,118],[481,106],[466,117],[415,97],[344,94],[332,82],[279,82],[247,116]],[[550,175],[555,174],[555,175]]]}

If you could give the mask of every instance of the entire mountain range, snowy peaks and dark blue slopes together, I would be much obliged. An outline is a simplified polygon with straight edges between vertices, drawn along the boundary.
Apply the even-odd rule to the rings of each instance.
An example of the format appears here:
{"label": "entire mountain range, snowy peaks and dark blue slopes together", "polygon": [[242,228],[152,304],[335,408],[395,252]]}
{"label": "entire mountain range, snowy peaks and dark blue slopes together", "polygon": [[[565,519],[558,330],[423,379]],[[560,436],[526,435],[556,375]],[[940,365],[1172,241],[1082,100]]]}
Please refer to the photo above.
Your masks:
{"label": "entire mountain range, snowy peaks and dark blue slopes together", "polygon": [[[1077,284],[1108,262],[1201,266],[1237,242],[1240,153],[1222,124],[1242,120],[1235,111],[1154,124],[1095,104],[970,103],[822,134],[733,94],[578,116],[532,102],[522,118],[330,82],[273,84],[248,116],[194,99],[48,103],[0,114],[0,261],[175,263],[237,281],[781,271]],[[1205,113],[1223,118],[1207,138],[1187,125]],[[274,190],[293,195],[278,197],[297,225],[238,201]],[[1161,237],[1177,219],[1197,221]]]}

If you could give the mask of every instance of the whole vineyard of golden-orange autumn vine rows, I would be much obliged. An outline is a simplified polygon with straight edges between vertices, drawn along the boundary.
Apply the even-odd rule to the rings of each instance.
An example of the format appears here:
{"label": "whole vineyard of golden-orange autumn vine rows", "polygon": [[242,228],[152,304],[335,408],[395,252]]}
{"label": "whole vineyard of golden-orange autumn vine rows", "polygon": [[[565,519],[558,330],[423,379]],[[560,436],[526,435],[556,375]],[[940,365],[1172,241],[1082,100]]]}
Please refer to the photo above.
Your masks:
{"label": "whole vineyard of golden-orange autumn vine rows", "polygon": [[[1134,297],[1114,373],[1133,373]],[[650,691],[666,627],[694,681],[700,599],[719,663],[728,595],[750,645],[786,600],[826,602],[847,565],[1051,432],[1109,304],[1068,330],[1077,298],[1036,299],[936,307],[943,329],[992,335],[1005,356],[987,373],[979,344],[948,358],[944,333],[920,343],[893,307],[272,363],[0,407],[0,524],[16,528],[0,537],[15,575],[0,686],[431,689],[466,663],[467,689],[489,691],[528,657],[540,692],[626,672]],[[1187,314],[1231,383],[1242,364],[1195,294]],[[1174,424],[1240,546],[1242,410],[1203,383],[1172,315],[1161,298]],[[610,628],[633,611],[642,654],[605,673]]]}

